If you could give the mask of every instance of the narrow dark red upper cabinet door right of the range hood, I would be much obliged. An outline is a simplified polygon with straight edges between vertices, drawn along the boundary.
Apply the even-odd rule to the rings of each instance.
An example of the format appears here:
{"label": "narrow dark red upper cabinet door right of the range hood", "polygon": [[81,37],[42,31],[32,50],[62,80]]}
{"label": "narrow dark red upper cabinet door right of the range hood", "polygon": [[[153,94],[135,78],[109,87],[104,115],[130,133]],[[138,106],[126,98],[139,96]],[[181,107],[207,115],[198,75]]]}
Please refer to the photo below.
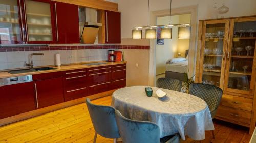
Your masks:
{"label": "narrow dark red upper cabinet door right of the range hood", "polygon": [[121,43],[121,13],[105,11],[106,43]]}

